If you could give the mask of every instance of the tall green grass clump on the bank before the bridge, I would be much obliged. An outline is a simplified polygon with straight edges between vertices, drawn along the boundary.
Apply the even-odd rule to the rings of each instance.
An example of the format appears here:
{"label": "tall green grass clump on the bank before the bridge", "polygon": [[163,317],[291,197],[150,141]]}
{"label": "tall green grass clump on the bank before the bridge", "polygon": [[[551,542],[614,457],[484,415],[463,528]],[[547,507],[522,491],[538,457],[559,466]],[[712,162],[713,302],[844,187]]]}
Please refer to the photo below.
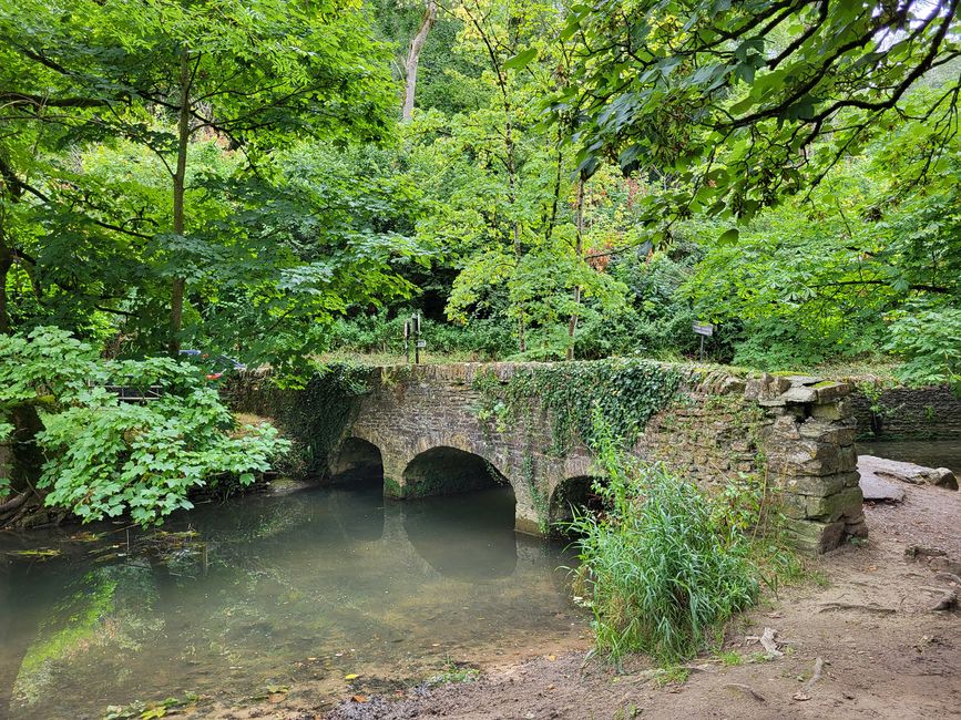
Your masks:
{"label": "tall green grass clump on the bank before the bridge", "polygon": [[571,524],[581,565],[575,587],[594,613],[596,649],[612,659],[646,652],[662,665],[704,648],[750,607],[758,574],[739,533],[724,529],[710,500],[662,465],[630,464],[600,412],[596,483],[610,511]]}

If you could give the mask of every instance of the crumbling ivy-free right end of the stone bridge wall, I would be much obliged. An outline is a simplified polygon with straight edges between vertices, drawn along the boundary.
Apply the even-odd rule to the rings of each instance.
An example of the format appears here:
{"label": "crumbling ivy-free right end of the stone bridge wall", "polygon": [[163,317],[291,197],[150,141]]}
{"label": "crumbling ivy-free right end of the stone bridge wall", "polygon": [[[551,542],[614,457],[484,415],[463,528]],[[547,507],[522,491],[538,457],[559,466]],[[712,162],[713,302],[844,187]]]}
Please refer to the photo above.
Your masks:
{"label": "crumbling ivy-free right end of the stone bridge wall", "polygon": [[790,539],[806,552],[867,536],[849,384],[687,374],[681,400],[652,419],[637,454],[707,490],[759,475],[781,506]]}

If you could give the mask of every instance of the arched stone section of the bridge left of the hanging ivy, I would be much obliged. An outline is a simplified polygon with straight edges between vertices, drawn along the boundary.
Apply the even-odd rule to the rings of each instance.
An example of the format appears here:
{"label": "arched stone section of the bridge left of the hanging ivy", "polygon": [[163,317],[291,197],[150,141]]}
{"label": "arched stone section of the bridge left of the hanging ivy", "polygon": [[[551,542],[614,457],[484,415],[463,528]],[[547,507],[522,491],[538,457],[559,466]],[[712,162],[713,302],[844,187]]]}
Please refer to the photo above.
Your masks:
{"label": "arched stone section of the bridge left of the hanging ivy", "polygon": [[[528,433],[501,431],[478,418],[480,393],[472,380],[481,369],[507,380],[514,366],[421,366],[378,369],[349,423],[329,476],[339,481],[382,466],[385,495],[422,497],[510,484],[517,500],[515,528],[542,534],[564,518],[570,492],[591,484],[592,460],[575,445],[563,457],[548,452],[551,428]],[[553,502],[553,506],[550,502]],[[545,506],[546,504],[546,506]],[[546,516],[545,516],[546,513]]]}

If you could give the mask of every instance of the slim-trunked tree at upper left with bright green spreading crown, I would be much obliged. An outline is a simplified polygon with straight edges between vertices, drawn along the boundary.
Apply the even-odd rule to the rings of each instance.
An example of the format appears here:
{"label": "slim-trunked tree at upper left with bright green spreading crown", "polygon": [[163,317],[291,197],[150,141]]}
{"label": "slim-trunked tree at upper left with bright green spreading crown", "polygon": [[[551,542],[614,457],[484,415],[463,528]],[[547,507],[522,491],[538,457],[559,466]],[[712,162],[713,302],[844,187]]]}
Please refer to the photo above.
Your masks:
{"label": "slim-trunked tree at upper left with bright green spreading crown", "polygon": [[[71,127],[73,142],[124,137],[154,153],[168,175],[170,214],[140,235],[167,257],[174,353],[187,280],[204,260],[202,223],[185,202],[191,143],[218,138],[256,172],[257,158],[292,136],[376,140],[388,127],[380,51],[362,13],[339,0],[256,7],[147,0],[136,12],[123,0],[69,10],[33,0],[2,7],[0,37],[22,70],[7,93],[27,110],[19,120],[49,120],[40,110],[49,106],[43,80],[52,74],[69,94],[57,106],[99,109],[52,120]],[[19,187],[49,200],[35,187]]]}

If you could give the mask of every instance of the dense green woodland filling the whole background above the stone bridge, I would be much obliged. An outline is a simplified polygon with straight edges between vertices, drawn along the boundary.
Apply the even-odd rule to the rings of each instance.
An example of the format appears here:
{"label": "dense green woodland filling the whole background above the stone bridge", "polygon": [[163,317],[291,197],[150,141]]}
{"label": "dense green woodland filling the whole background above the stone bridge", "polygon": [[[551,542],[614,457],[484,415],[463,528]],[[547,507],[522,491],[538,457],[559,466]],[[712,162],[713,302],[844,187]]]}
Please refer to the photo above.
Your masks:
{"label": "dense green woodland filling the whole background above the stone bridge", "polygon": [[702,321],[715,361],[958,384],[957,4],[0,0],[13,502],[248,482],[282,441],[178,351],[295,384],[413,312],[433,354],[692,358]]}

